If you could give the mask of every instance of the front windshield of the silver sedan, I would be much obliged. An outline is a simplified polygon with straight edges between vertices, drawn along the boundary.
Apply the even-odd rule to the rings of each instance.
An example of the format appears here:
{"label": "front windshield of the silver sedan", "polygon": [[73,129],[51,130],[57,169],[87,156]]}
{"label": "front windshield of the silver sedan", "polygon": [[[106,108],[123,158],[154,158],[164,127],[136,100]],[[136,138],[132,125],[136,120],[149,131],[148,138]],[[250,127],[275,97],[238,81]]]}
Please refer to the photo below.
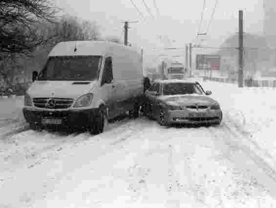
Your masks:
{"label": "front windshield of the silver sedan", "polygon": [[203,93],[200,86],[194,83],[168,83],[163,85],[164,95]]}

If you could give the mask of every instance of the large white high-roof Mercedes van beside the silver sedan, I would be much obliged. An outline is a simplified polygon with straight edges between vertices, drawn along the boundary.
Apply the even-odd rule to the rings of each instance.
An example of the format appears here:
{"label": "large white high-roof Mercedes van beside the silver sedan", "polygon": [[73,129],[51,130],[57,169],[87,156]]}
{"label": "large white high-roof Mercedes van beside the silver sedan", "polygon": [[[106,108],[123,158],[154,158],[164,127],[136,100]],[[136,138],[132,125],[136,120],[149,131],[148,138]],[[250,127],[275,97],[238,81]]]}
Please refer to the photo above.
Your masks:
{"label": "large white high-roof Mercedes van beside the silver sedan", "polygon": [[[139,116],[143,95],[140,51],[104,41],[57,44],[24,97],[23,114],[38,126],[104,131],[108,119]],[[38,74],[38,76],[36,75]]]}

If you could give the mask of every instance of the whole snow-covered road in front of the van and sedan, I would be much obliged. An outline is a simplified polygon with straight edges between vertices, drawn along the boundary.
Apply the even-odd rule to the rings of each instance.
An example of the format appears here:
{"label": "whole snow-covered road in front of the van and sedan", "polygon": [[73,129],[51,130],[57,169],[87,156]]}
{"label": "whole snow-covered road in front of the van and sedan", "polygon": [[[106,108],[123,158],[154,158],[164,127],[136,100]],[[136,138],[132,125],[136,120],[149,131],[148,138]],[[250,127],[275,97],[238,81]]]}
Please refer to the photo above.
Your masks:
{"label": "whole snow-covered road in front of the van and sedan", "polygon": [[98,136],[68,135],[27,130],[14,112],[18,119],[0,128],[0,208],[276,207],[273,154],[242,127],[258,119],[233,116],[235,89],[223,97],[217,85],[209,89],[225,117],[215,127],[165,128],[140,117]]}

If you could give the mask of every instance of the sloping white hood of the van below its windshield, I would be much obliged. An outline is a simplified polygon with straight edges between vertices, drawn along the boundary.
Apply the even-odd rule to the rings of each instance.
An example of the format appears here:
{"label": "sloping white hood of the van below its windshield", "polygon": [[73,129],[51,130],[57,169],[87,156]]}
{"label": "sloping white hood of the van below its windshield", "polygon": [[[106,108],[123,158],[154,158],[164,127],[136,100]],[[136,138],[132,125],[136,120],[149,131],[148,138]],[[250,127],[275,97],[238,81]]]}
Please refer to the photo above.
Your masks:
{"label": "sloping white hood of the van below its windshield", "polygon": [[31,97],[77,98],[91,91],[96,81],[35,81],[27,93]]}

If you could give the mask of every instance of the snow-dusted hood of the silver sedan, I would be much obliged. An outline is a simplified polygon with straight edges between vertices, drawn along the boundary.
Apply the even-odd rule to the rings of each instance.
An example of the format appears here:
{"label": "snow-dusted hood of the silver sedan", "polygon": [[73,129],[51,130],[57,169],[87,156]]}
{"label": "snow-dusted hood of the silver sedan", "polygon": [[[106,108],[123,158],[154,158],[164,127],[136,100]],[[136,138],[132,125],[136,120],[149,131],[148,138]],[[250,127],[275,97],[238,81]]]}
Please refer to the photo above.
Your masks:
{"label": "snow-dusted hood of the silver sedan", "polygon": [[185,95],[167,95],[160,96],[159,99],[166,102],[170,105],[214,105],[218,104],[218,102],[211,97],[206,95],[198,95],[198,94],[185,94]]}

